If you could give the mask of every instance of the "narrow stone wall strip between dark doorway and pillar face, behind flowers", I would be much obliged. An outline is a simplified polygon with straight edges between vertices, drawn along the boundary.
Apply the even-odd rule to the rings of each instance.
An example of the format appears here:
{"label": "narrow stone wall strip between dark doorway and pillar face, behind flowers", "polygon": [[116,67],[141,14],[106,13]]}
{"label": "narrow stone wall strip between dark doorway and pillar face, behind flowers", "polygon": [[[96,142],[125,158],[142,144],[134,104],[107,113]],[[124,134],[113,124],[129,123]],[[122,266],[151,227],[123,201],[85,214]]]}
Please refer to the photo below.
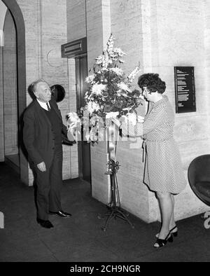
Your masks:
{"label": "narrow stone wall strip between dark doorway and pillar face, behind flowers", "polygon": [[[111,34],[110,0],[86,1],[87,66],[106,48]],[[92,196],[105,204],[109,201],[109,177],[104,175],[107,163],[106,141],[91,146]]]}

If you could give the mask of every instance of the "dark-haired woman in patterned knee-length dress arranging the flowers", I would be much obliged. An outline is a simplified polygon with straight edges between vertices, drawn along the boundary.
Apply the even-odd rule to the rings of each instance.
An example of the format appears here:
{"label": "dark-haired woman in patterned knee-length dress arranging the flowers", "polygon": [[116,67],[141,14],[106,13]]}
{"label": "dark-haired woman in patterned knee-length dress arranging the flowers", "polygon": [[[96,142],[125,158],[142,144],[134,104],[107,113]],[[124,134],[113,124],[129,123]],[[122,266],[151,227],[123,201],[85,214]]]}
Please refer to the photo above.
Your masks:
{"label": "dark-haired woman in patterned knee-length dress arranging the flowers", "polygon": [[[162,226],[156,235],[154,247],[162,247],[177,235],[174,221],[174,195],[183,191],[186,181],[183,175],[179,149],[174,141],[174,111],[165,92],[165,82],[158,74],[139,77],[139,87],[148,103],[144,123],[122,124],[123,134],[143,137],[146,151],[144,183],[154,191],[160,202]],[[117,123],[115,120],[113,120]]]}

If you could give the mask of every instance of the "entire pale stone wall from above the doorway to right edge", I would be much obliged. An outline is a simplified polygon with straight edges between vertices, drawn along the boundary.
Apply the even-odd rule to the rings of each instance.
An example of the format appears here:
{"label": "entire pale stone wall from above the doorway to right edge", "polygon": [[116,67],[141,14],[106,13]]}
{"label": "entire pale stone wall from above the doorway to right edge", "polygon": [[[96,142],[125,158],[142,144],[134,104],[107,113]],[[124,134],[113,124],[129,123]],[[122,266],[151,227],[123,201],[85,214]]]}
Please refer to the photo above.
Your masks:
{"label": "entire pale stone wall from above the doorway to right edge", "polygon": [[[196,156],[210,151],[209,141],[209,13],[208,1],[169,0],[87,0],[69,1],[68,37],[78,39],[87,34],[88,67],[106,47],[110,32],[116,36],[116,46],[125,56],[124,69],[132,70],[138,62],[141,74],[157,72],[167,83],[167,95],[174,106],[174,67],[195,67],[195,113],[176,114],[174,137],[179,144],[183,170]],[[72,16],[73,11],[78,17]],[[86,13],[85,13],[86,10]],[[84,15],[85,13],[85,15]],[[80,33],[73,26],[80,26]],[[146,106],[139,108],[144,114]],[[135,144],[135,143],[134,143]],[[141,146],[118,143],[118,184],[122,206],[144,221],[160,220],[158,201],[142,183],[144,165]],[[141,143],[139,143],[141,144]],[[137,149],[132,149],[137,147]],[[126,156],[126,159],[125,159]],[[106,143],[92,148],[92,195],[107,203],[109,181],[106,169]],[[189,184],[176,196],[176,219],[199,214],[208,209],[194,195]]]}

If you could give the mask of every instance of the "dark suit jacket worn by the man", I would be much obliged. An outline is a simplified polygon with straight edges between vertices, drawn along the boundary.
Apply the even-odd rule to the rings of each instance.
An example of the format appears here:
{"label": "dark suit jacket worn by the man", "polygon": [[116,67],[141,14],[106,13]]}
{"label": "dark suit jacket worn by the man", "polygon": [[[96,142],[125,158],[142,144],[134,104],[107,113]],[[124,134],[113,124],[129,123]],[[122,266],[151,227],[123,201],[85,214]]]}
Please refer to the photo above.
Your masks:
{"label": "dark suit jacket worn by the man", "polygon": [[[50,106],[55,110],[60,121],[60,130],[66,137],[66,126],[62,123],[62,116],[55,99],[50,100]],[[55,150],[55,139],[50,120],[37,100],[34,100],[27,107],[23,120],[23,141],[29,155],[29,161],[34,165],[45,162],[45,165],[50,167]]]}

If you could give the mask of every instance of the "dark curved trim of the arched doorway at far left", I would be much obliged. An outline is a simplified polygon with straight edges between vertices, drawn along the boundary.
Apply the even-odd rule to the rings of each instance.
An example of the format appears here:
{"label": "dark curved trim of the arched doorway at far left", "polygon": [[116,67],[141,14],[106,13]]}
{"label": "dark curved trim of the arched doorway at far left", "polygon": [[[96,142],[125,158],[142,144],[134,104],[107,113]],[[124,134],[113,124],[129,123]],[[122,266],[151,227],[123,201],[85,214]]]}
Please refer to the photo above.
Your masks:
{"label": "dark curved trim of the arched doorway at far left", "polygon": [[[17,106],[17,146],[18,146],[18,159],[19,159],[19,171],[20,178],[22,181],[27,183],[28,179],[28,163],[25,154],[23,153],[22,147],[22,113],[25,111],[27,102],[26,102],[26,64],[25,64],[25,22],[22,16],[22,12],[18,3],[15,0],[0,0],[8,8],[8,15],[13,18],[15,26],[15,48],[16,48],[16,97],[13,97],[16,101]],[[8,14],[7,13],[7,14]],[[9,19],[8,19],[9,20]],[[8,25],[7,25],[8,26]],[[13,37],[14,39],[14,37]],[[12,40],[13,40],[12,39]],[[14,41],[13,41],[14,42]],[[4,70],[4,69],[3,69]],[[6,87],[3,87],[3,93],[6,93]],[[14,111],[15,112],[15,111]],[[4,130],[5,130],[4,125]],[[15,135],[15,130],[14,130]],[[2,135],[2,133],[1,133]],[[2,137],[1,137],[2,138]],[[3,138],[5,135],[3,133]]]}

